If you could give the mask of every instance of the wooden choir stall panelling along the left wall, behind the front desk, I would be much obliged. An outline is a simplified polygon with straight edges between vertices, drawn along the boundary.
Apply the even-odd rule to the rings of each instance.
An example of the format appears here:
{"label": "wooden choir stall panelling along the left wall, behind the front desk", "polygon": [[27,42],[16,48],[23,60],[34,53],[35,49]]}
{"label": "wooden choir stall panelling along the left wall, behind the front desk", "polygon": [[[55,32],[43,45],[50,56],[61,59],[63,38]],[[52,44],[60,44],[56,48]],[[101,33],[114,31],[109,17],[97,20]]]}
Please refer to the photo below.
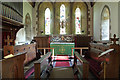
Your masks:
{"label": "wooden choir stall panelling along the left wall, behind the front desk", "polygon": [[26,65],[27,63],[29,63],[30,61],[36,58],[36,44],[32,43],[28,45],[4,46],[4,56],[7,56],[9,54],[15,55],[17,53],[22,53],[22,52],[27,52],[24,61],[24,65]]}

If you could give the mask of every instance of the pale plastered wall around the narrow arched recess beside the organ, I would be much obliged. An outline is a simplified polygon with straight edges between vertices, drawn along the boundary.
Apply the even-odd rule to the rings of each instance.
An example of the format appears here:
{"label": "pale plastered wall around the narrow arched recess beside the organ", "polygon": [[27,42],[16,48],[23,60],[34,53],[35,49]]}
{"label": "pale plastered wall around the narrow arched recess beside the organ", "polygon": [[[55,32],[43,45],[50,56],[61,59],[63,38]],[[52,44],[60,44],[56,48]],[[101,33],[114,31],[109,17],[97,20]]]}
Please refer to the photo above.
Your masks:
{"label": "pale plastered wall around the narrow arched recess beside the organ", "polygon": [[[29,13],[30,18],[31,18],[31,38],[33,38],[33,27],[32,27],[32,6],[28,3],[28,2],[23,2],[23,24],[25,24],[25,17],[26,14]],[[30,41],[26,41],[26,34],[25,34],[25,26],[24,28],[20,29],[16,35],[16,45],[20,45],[18,44],[18,42],[22,42],[22,43],[30,43]]]}

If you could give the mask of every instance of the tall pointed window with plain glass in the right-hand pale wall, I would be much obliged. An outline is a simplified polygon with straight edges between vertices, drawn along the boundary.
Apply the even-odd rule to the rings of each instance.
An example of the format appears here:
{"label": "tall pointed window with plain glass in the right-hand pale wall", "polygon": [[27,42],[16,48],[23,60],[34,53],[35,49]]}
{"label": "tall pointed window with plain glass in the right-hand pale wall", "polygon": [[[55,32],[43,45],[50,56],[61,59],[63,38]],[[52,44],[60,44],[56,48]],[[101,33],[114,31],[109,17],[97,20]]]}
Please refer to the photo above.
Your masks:
{"label": "tall pointed window with plain glass in the right-hand pale wall", "polygon": [[104,6],[101,13],[101,40],[110,39],[110,10],[107,5]]}

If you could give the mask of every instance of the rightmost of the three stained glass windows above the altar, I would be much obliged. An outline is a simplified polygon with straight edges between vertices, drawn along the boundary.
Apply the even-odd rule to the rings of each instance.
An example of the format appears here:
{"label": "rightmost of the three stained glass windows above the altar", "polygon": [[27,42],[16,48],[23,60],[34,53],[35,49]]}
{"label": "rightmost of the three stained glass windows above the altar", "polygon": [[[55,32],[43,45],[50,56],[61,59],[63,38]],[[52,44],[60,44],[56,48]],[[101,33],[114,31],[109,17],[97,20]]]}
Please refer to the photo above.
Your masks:
{"label": "rightmost of the three stained glass windows above the altar", "polygon": [[81,12],[79,8],[75,10],[75,34],[81,34]]}

